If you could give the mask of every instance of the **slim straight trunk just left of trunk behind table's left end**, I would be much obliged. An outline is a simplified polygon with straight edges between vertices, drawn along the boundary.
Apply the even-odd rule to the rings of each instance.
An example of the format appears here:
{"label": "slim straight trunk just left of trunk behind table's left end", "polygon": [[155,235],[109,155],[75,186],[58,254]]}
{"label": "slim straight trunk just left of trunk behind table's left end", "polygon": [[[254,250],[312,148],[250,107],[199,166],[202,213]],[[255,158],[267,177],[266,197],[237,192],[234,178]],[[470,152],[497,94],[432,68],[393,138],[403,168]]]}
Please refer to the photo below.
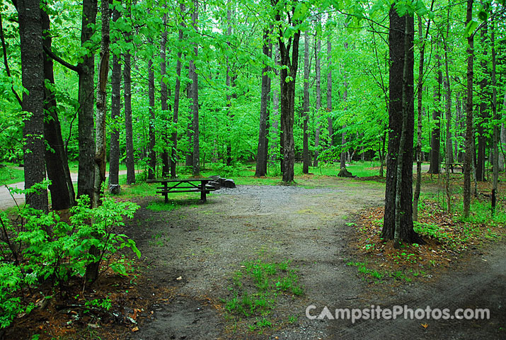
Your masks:
{"label": "slim straight trunk just left of trunk behind table's left end", "polygon": [[132,77],[130,51],[125,52],[125,67],[123,67],[124,96],[125,96],[125,137],[127,142],[127,183],[135,183],[134,162],[134,133],[132,129]]}

